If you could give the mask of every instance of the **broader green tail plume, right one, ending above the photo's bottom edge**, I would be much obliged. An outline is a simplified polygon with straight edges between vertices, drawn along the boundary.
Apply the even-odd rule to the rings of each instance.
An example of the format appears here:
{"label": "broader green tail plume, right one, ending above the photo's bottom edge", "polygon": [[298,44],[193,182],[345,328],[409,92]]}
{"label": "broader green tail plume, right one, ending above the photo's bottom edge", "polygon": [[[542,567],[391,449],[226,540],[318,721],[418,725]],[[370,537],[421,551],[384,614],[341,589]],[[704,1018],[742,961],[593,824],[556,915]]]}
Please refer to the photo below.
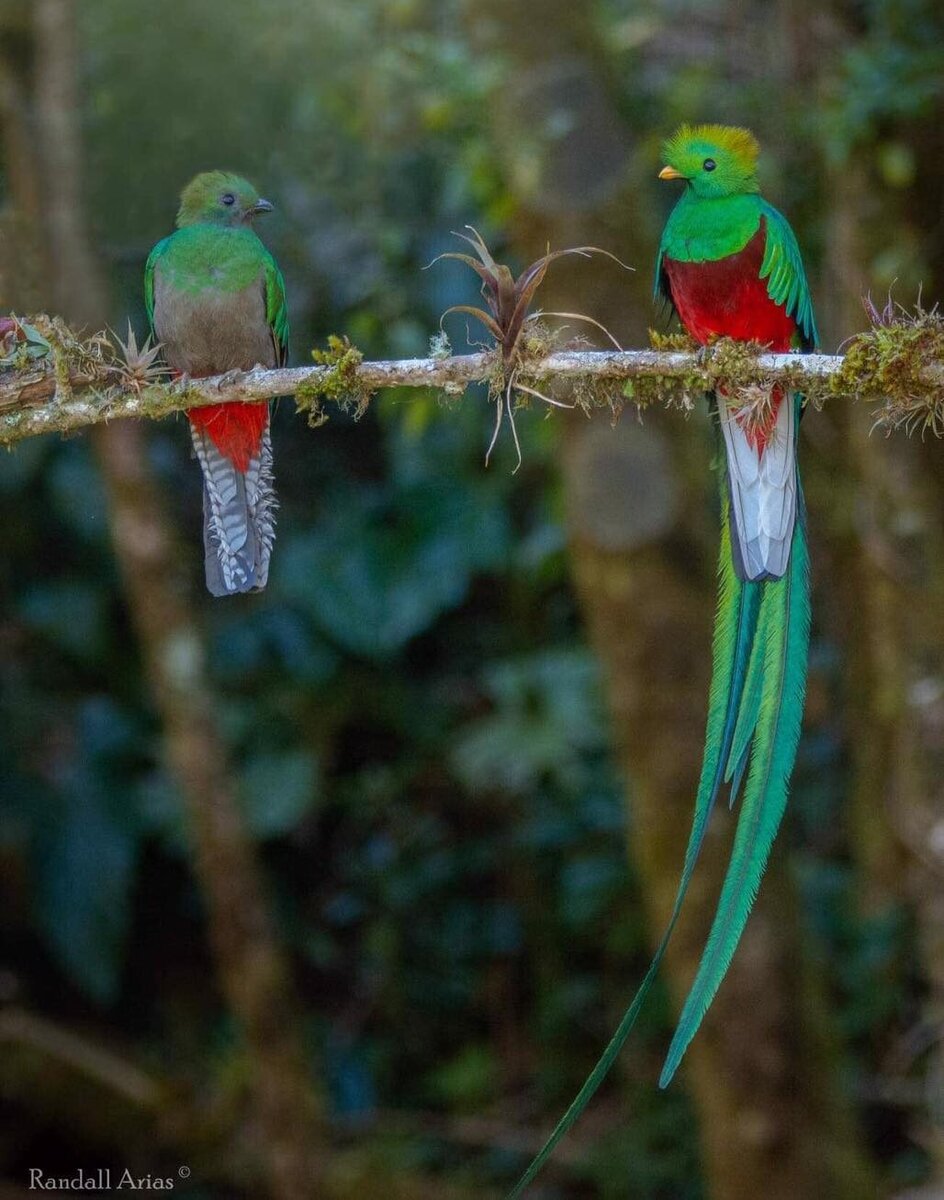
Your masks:
{"label": "broader green tail plume, right one, ending above the photo's bottom edge", "polygon": [[810,557],[801,514],[794,527],[789,570],[782,580],[766,582],[763,588],[757,623],[763,682],[744,804],[708,946],[662,1069],[662,1087],[674,1075],[724,978],[787,804],[800,740],[810,644]]}

